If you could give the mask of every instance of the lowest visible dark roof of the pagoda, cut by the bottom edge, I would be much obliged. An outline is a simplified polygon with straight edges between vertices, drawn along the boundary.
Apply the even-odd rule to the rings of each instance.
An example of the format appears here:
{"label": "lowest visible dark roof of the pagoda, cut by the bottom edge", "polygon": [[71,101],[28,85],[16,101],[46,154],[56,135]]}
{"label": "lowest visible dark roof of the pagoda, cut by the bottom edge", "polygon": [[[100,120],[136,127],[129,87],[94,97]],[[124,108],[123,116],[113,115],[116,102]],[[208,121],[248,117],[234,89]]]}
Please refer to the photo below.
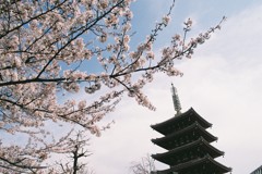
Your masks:
{"label": "lowest visible dark roof of the pagoda, cut by the bottom edge", "polygon": [[[179,174],[191,174],[194,170],[200,170],[204,174],[215,173],[224,174],[231,171],[231,167],[227,167],[219,162],[215,161],[212,157],[205,156],[200,159],[191,160],[175,166],[171,166],[168,170],[157,171],[160,174],[171,174],[171,172],[178,172]],[[204,169],[204,171],[203,171]]]}

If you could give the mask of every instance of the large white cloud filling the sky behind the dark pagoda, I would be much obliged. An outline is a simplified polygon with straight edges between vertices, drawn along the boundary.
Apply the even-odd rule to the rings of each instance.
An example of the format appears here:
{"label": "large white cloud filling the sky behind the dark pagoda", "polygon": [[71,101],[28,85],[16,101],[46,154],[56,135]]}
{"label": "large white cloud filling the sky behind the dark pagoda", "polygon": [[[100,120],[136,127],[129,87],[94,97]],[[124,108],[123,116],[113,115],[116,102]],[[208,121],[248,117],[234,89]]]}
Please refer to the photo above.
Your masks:
{"label": "large white cloud filling the sky behind the dark pagoda", "polygon": [[[262,7],[228,18],[216,36],[199,48],[192,60],[178,65],[182,78],[158,75],[146,86],[156,112],[124,99],[111,114],[116,125],[95,139],[91,165],[97,174],[123,174],[132,161],[163,150],[150,139],[160,135],[150,128],[175,114],[171,82],[178,88],[183,111],[193,107],[218,137],[219,158],[235,174],[252,172],[262,164]],[[163,166],[162,166],[163,167]]]}

